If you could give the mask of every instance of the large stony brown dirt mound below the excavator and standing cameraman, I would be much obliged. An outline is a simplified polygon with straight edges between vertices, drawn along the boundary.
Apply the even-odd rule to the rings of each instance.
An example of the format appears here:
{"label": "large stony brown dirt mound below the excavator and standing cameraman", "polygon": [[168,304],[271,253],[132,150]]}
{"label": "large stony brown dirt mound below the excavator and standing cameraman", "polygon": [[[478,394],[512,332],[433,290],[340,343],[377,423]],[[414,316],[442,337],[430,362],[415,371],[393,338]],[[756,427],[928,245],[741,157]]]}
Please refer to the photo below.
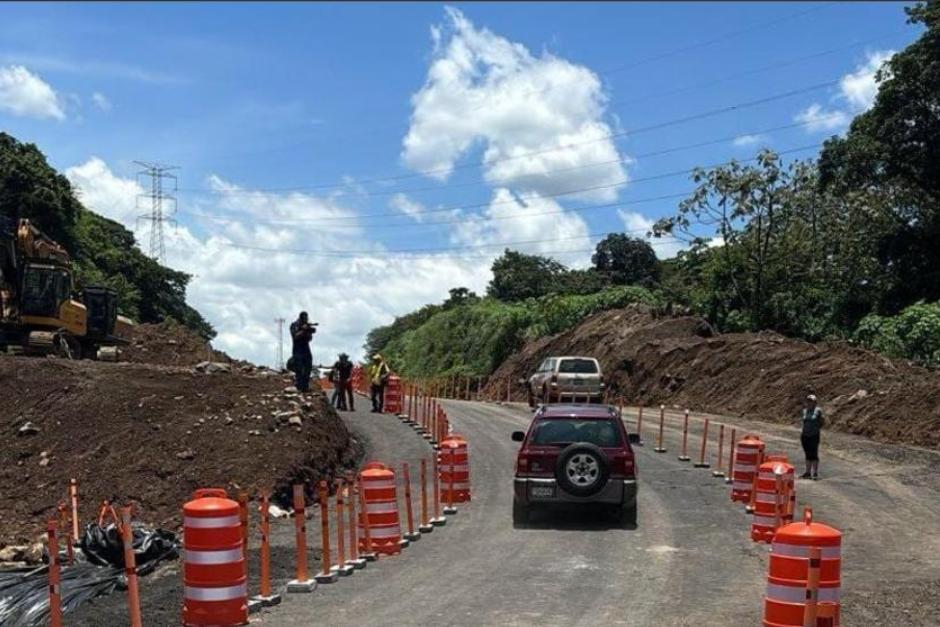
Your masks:
{"label": "large stony brown dirt mound below the excavator and standing cameraman", "polygon": [[[199,487],[274,488],[352,465],[358,449],[319,392],[270,373],[0,357],[0,547],[43,530],[79,481],[81,520],[102,499],[175,528]],[[286,503],[287,500],[284,500]]]}

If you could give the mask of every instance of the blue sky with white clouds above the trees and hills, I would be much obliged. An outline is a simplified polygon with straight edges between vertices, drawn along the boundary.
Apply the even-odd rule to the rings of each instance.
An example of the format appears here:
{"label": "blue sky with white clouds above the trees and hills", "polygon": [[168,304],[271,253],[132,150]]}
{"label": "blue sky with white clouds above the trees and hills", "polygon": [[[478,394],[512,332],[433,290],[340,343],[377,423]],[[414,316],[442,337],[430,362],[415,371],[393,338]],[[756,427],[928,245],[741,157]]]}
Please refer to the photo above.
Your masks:
{"label": "blue sky with white clouds above the trees and hills", "polygon": [[691,188],[660,175],[842,132],[918,32],[899,3],[5,3],[0,128],[129,227],[133,161],[180,166],[167,260],[218,343],[270,362],[305,307],[325,361],[506,245],[642,236]]}

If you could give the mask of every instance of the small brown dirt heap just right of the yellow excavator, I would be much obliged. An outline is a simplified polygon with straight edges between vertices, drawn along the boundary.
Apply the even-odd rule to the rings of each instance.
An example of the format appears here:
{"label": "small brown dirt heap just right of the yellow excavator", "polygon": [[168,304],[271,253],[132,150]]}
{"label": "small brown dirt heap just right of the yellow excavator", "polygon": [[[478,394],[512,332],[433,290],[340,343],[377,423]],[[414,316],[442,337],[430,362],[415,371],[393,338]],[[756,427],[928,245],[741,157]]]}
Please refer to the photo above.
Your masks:
{"label": "small brown dirt heap just right of the yellow excavator", "polygon": [[233,363],[233,359],[181,324],[138,324],[121,347],[120,360],[158,366],[193,366],[203,361]]}

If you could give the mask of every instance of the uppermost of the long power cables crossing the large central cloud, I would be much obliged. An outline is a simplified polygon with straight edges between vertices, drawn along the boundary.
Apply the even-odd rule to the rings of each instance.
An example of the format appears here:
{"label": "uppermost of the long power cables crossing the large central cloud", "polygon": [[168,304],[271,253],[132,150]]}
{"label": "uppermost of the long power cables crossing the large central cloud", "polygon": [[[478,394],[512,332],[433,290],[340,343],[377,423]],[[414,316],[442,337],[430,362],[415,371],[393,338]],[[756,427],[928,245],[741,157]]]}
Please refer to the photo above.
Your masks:
{"label": "uppermost of the long power cables crossing the large central cloud", "polygon": [[[542,154],[547,154],[547,153],[551,153],[551,152],[558,152],[559,150],[570,150],[571,148],[576,148],[576,147],[578,147],[578,146],[585,146],[585,145],[588,145],[588,144],[595,144],[595,143],[597,143],[597,142],[608,141],[608,140],[610,140],[610,139],[616,139],[616,138],[619,138],[619,137],[626,137],[626,136],[628,136],[628,135],[629,135],[629,136],[640,135],[640,134],[643,134],[643,133],[648,133],[648,132],[651,132],[651,131],[656,131],[656,130],[660,130],[660,129],[663,129],[663,128],[668,128],[668,127],[671,127],[671,126],[677,126],[677,125],[681,125],[681,124],[687,124],[687,123],[689,123],[689,122],[695,122],[695,121],[703,120],[703,119],[706,119],[706,118],[709,118],[709,117],[715,117],[715,116],[718,116],[718,115],[724,115],[724,114],[726,114],[726,113],[732,113],[732,112],[735,112],[735,111],[740,111],[740,110],[742,110],[742,109],[749,109],[749,108],[751,108],[751,107],[756,107],[756,106],[760,106],[760,105],[762,105],[762,104],[767,104],[768,102],[774,102],[774,101],[777,101],[777,100],[783,100],[783,99],[785,99],[785,98],[792,98],[793,96],[799,96],[799,95],[807,94],[807,93],[810,93],[810,92],[813,92],[813,91],[817,91],[817,90],[819,90],[819,89],[823,89],[823,88],[826,88],[826,87],[832,87],[832,86],[834,86],[834,85],[837,85],[840,80],[841,80],[841,77],[840,77],[840,78],[837,78],[837,79],[834,79],[834,80],[829,80],[829,81],[825,81],[825,82],[822,82],[822,83],[816,83],[816,84],[813,84],[813,85],[809,85],[809,86],[807,86],[807,87],[802,87],[802,88],[799,88],[799,89],[793,89],[793,90],[790,90],[790,91],[785,91],[785,92],[777,93],[777,94],[774,94],[774,95],[772,95],[772,96],[765,96],[765,97],[763,97],[763,98],[757,98],[757,99],[755,99],[755,100],[748,100],[748,101],[745,101],[745,102],[741,102],[741,103],[736,103],[736,104],[732,104],[732,105],[727,105],[727,106],[724,106],[724,107],[720,107],[720,108],[717,108],[717,109],[710,109],[710,110],[703,111],[703,112],[700,112],[700,113],[696,113],[696,114],[684,116],[684,117],[681,117],[681,118],[674,118],[674,119],[672,119],[672,120],[666,120],[666,121],[664,121],[664,122],[658,122],[658,123],[656,123],[656,124],[651,124],[651,125],[648,125],[648,126],[641,126],[641,127],[637,127],[637,128],[632,128],[632,129],[624,130],[624,131],[618,131],[618,132],[615,132],[615,133],[604,133],[604,134],[602,134],[602,135],[600,135],[600,136],[598,136],[598,137],[595,137],[595,138],[593,138],[593,139],[587,139],[587,140],[578,141],[578,142],[571,142],[571,143],[568,143],[568,144],[564,144],[564,145],[561,145],[561,146],[555,146],[555,147],[552,147],[552,148],[543,148],[543,149],[541,149],[541,150],[534,150],[534,151],[530,151],[530,152],[520,153],[520,154],[512,155],[512,156],[510,156],[510,157],[502,157],[502,158],[499,158],[499,159],[491,159],[491,160],[489,160],[489,161],[474,161],[474,162],[469,162],[469,163],[456,164],[456,165],[454,165],[454,166],[452,166],[452,167],[449,167],[449,168],[435,168],[435,169],[431,169],[431,170],[424,170],[424,171],[422,171],[422,172],[413,172],[413,173],[410,173],[410,174],[400,174],[400,175],[389,176],[389,177],[377,177],[377,178],[373,178],[373,179],[363,179],[363,180],[355,181],[355,183],[357,183],[357,184],[359,184],[359,185],[362,185],[362,184],[365,184],[365,183],[389,183],[389,182],[400,181],[400,180],[406,180],[406,179],[411,179],[411,178],[426,177],[426,176],[431,176],[431,175],[434,175],[434,174],[447,174],[447,173],[453,172],[453,171],[455,171],[455,170],[464,170],[464,169],[469,169],[469,168],[491,167],[491,166],[493,166],[494,164],[497,164],[497,163],[505,163],[505,162],[508,162],[508,161],[515,161],[515,160],[518,160],[518,159],[526,159],[526,158],[529,158],[529,157],[534,157],[534,156],[538,156],[538,155],[542,155]],[[187,190],[184,190],[184,191],[199,192],[199,193],[210,193],[210,194],[213,194],[213,193],[214,193],[214,194],[221,194],[221,193],[224,193],[224,194],[257,194],[257,193],[263,193],[263,192],[291,192],[291,191],[305,191],[305,190],[317,190],[317,189],[319,189],[319,190],[323,190],[323,189],[342,189],[342,188],[345,188],[345,187],[348,187],[348,184],[340,184],[340,185],[337,185],[337,184],[335,184],[335,183],[329,183],[329,184],[314,184],[314,185],[295,185],[295,186],[290,186],[290,187],[258,187],[258,188],[254,188],[254,189],[251,189],[251,190],[242,190],[242,189],[212,190],[212,189],[204,189],[204,188],[196,188],[196,189],[190,188],[190,189],[187,189]]]}

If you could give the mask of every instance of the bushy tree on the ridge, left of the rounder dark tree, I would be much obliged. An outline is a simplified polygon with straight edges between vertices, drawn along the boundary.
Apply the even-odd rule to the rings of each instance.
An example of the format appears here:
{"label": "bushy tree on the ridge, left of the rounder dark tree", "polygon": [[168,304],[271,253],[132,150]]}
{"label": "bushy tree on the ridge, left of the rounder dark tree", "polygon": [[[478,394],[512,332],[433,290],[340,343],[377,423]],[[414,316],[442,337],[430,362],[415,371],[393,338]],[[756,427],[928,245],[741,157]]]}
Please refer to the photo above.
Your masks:
{"label": "bushy tree on the ridge, left of the rounder dark tree", "polygon": [[554,259],[507,248],[493,262],[491,270],[493,279],[486,288],[487,295],[512,302],[557,291],[559,277],[567,268]]}

